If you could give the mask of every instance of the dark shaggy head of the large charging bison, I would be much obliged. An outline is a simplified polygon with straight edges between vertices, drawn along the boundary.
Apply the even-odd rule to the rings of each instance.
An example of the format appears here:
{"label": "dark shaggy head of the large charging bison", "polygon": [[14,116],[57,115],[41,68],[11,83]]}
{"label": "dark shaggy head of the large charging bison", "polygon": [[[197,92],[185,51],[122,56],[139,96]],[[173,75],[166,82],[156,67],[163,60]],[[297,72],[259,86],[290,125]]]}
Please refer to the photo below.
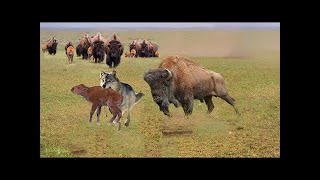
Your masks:
{"label": "dark shaggy head of the large charging bison", "polygon": [[160,111],[165,115],[171,116],[169,104],[173,103],[176,107],[180,104],[174,98],[172,91],[173,76],[168,69],[152,69],[144,74],[144,80],[149,84],[153,101],[158,104]]}

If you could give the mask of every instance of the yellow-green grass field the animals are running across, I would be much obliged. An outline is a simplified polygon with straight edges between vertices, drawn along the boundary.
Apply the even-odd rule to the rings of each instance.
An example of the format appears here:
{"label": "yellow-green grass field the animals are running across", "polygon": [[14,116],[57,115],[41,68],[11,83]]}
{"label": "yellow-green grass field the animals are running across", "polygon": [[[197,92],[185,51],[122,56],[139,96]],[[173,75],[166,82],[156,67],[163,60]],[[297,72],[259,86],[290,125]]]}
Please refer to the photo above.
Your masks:
{"label": "yellow-green grass field the animals are running across", "polygon": [[[55,56],[40,52],[40,157],[280,157],[279,31],[119,32],[125,51],[130,40],[148,38],[159,43],[162,56],[122,57],[119,79],[145,96],[133,108],[130,126],[119,132],[107,125],[106,107],[101,125],[96,115],[89,125],[91,104],[70,91],[80,83],[99,85],[100,71],[111,71],[105,61],[80,57],[67,65],[65,43],[77,44],[84,33],[96,32],[40,32],[40,43],[52,36],[59,42]],[[209,115],[198,100],[189,118],[173,105],[173,117],[160,112],[143,74],[170,54],[221,73],[241,115],[220,98],[213,98]]]}

